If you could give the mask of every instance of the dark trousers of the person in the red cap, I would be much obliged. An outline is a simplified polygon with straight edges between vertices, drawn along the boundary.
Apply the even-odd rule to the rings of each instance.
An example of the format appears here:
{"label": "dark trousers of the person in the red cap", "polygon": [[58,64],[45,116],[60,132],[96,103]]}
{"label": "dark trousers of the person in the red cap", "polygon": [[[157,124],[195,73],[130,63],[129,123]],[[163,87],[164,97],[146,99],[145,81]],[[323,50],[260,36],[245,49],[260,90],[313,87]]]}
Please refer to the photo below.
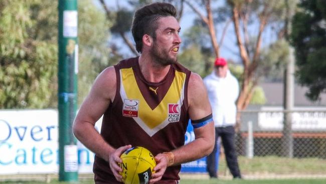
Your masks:
{"label": "dark trousers of the person in the red cap", "polygon": [[222,139],[222,144],[224,147],[224,153],[226,158],[226,163],[230,169],[231,174],[234,178],[241,178],[238,157],[234,146],[234,127],[215,127],[215,146],[213,152],[207,156],[207,171],[210,177],[217,177],[216,170],[216,151],[217,150],[217,140],[219,137]]}

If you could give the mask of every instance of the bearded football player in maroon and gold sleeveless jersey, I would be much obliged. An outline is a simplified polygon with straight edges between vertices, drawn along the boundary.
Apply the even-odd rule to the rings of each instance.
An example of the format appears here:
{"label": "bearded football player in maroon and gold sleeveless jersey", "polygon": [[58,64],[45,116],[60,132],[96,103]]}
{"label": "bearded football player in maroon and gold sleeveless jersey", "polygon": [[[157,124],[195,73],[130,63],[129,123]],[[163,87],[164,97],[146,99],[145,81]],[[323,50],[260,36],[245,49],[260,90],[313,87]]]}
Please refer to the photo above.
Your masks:
{"label": "bearded football player in maroon and gold sleeveless jersey", "polygon": [[[181,163],[214,148],[214,124],[201,77],[177,62],[180,25],[171,4],[137,10],[132,36],[139,57],[104,69],[76,116],[77,139],[95,153],[95,183],[120,183],[120,155],[131,146],[155,156],[150,183],[178,183]],[[103,115],[101,133],[95,122]],[[195,140],[184,145],[189,118]]]}

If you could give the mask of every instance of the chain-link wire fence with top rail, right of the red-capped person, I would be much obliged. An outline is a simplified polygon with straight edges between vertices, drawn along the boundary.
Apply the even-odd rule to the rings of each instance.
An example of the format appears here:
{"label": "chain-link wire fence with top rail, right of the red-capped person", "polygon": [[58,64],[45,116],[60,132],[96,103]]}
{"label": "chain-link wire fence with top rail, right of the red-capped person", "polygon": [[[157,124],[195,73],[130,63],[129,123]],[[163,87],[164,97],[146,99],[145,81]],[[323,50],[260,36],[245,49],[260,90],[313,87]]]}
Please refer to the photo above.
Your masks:
{"label": "chain-link wire fence with top rail, right of the red-capped person", "polygon": [[[326,109],[247,110],[239,113],[241,128],[236,145],[240,155],[245,153],[248,158],[255,155],[326,158]],[[289,127],[285,126],[285,114],[291,117],[287,120],[292,121],[288,122]],[[288,149],[293,149],[291,155],[286,154]]]}

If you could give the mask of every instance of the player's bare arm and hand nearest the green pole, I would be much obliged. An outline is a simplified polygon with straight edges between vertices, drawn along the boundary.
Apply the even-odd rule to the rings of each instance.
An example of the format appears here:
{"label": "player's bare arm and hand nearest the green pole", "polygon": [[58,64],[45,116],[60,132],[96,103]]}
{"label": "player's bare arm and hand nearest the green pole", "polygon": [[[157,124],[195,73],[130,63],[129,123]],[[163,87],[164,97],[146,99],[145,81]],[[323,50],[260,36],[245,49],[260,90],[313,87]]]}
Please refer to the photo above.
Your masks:
{"label": "player's bare arm and hand nearest the green pole", "polygon": [[122,176],[122,169],[117,162],[121,153],[131,145],[113,148],[95,129],[96,121],[103,115],[105,110],[113,102],[116,93],[116,73],[114,67],[103,70],[96,78],[89,95],[81,105],[73,125],[76,138],[97,156],[109,162],[110,168],[118,181]]}

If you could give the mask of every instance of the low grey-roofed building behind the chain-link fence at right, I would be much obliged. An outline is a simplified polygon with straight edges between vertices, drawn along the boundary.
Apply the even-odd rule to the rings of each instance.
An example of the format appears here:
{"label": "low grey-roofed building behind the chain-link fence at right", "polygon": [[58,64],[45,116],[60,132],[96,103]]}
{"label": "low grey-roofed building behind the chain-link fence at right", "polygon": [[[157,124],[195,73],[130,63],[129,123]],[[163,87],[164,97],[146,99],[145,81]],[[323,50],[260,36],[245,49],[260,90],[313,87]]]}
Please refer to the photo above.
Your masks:
{"label": "low grey-roofed building behind the chain-link fence at right", "polygon": [[[246,110],[251,112],[241,113],[237,151],[248,157],[288,155],[290,144],[284,141],[283,129],[283,83],[264,82],[259,86],[264,90],[266,104],[250,105]],[[306,112],[292,113],[292,156],[326,158],[323,147],[326,145],[326,94],[320,95],[320,101],[311,102],[305,97],[307,90],[307,87],[294,85],[293,110]]]}

